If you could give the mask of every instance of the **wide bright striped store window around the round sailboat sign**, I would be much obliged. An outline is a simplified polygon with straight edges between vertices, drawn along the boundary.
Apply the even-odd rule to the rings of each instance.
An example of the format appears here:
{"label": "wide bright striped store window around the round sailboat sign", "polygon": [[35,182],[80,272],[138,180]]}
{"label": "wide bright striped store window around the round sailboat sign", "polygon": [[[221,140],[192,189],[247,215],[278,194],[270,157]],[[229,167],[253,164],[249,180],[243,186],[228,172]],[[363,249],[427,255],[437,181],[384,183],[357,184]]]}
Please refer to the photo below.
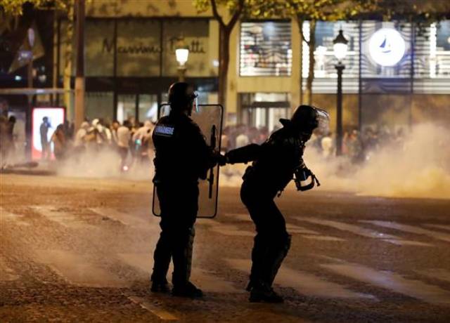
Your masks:
{"label": "wide bright striped store window around the round sailboat sign", "polygon": [[[341,28],[349,40],[343,61],[345,93],[358,93],[360,84],[362,93],[450,93],[449,20],[420,28],[409,22],[317,22],[314,93],[336,91],[333,39]],[[309,41],[309,22],[303,29]],[[309,48],[303,45],[306,86]]]}

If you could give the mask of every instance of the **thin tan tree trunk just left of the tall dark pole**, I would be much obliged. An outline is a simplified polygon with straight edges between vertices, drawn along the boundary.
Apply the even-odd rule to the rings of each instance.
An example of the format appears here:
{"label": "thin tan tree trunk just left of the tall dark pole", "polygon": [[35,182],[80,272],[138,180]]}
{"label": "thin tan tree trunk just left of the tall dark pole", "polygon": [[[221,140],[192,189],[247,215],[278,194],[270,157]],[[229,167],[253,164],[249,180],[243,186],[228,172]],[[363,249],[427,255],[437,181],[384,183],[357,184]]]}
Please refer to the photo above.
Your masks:
{"label": "thin tan tree trunk just left of the tall dark pole", "polygon": [[65,29],[65,51],[64,51],[64,72],[63,72],[63,88],[64,88],[64,105],[68,120],[73,119],[72,101],[70,91],[70,77],[72,75],[72,39],[73,39],[73,13],[74,6],[68,4],[68,23]]}

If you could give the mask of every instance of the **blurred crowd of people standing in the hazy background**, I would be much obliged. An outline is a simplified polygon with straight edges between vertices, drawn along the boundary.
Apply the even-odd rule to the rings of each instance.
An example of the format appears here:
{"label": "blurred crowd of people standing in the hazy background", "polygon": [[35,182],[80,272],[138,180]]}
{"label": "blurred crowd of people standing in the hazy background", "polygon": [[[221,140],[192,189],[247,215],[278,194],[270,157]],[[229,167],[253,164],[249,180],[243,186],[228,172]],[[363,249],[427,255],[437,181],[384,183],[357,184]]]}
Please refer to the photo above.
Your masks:
{"label": "blurred crowd of people standing in the hazy background", "polygon": [[[14,154],[15,138],[13,129],[15,118],[0,116],[0,150],[2,161]],[[80,159],[84,152],[98,154],[105,151],[117,154],[117,164],[120,169],[127,170],[136,163],[150,163],[153,159],[153,144],[151,135],[154,124],[150,121],[136,122],[127,119],[122,124],[115,120],[112,123],[103,119],[86,120],[79,129],[68,121],[59,124],[53,133],[49,133],[51,124],[44,117],[39,128],[41,137],[41,159],[50,160],[53,155],[56,161]],[[276,131],[278,128],[274,128]],[[264,143],[273,131],[267,127],[247,126],[243,124],[226,126],[222,131],[221,150],[227,152],[250,143]],[[360,164],[368,159],[371,153],[382,146],[392,143],[402,143],[404,131],[399,128],[392,131],[387,126],[366,126],[360,133],[356,129],[347,129],[342,138],[342,155],[354,164]],[[314,147],[323,158],[335,156],[335,134],[328,130],[317,129],[307,143]]]}

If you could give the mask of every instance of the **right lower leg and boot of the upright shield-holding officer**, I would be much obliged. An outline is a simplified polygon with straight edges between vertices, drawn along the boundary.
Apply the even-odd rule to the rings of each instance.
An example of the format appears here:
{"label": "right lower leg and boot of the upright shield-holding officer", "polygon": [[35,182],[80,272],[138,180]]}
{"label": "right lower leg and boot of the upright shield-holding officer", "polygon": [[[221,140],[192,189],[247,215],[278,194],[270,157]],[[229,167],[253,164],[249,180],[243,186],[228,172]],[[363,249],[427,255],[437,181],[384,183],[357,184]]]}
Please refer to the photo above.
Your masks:
{"label": "right lower leg and boot of the upright shield-holding officer", "polygon": [[[172,274],[173,296],[200,298],[203,291],[189,281],[191,277],[192,251],[195,236],[194,228],[189,228],[179,237],[179,243],[174,248],[174,272]],[[187,234],[186,234],[187,233]]]}

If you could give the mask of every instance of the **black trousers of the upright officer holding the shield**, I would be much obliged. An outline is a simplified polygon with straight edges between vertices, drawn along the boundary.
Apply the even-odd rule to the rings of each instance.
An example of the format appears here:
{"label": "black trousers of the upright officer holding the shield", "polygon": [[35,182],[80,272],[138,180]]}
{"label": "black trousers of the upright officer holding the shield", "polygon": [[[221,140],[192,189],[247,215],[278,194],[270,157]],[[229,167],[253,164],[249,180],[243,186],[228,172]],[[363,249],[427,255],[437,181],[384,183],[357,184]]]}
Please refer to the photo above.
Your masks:
{"label": "black trousers of the upright officer holding the shield", "polygon": [[194,223],[198,212],[198,184],[158,184],[161,234],[153,254],[153,282],[166,282],[174,261],[172,283],[183,285],[191,276]]}

